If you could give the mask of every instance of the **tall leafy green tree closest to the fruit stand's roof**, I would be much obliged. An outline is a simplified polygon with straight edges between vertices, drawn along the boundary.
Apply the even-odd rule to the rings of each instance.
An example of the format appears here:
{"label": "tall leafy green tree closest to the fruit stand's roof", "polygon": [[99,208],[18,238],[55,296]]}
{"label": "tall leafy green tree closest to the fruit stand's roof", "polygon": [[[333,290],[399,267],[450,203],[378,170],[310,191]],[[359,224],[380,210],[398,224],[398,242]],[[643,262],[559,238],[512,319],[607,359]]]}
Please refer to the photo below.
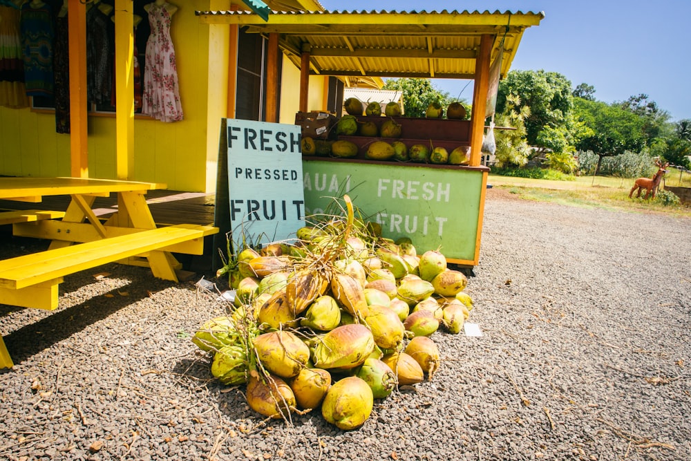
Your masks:
{"label": "tall leafy green tree closest to the fruit stand's roof", "polygon": [[[527,141],[541,146],[540,131],[549,127],[553,130],[567,130],[566,118],[574,107],[571,82],[562,74],[545,70],[511,70],[499,84],[497,111],[504,111],[507,95],[518,95],[521,104],[530,107],[525,120]],[[560,136],[571,138],[570,133]],[[549,138],[553,138],[552,135]]]}

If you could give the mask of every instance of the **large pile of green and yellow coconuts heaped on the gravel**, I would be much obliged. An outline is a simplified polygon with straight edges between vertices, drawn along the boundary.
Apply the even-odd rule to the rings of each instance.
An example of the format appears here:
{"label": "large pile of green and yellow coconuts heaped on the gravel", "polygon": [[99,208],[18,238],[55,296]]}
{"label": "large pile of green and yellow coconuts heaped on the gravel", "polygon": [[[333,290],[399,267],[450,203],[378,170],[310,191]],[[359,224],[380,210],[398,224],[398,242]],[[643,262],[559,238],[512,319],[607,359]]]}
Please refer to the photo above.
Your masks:
{"label": "large pile of green and yellow coconuts heaped on the gravel", "polygon": [[265,417],[321,408],[330,424],[359,428],[374,399],[433,379],[430,336],[460,332],[473,307],[466,276],[441,252],[417,255],[343,202],[342,216],[298,229],[291,245],[233,255],[219,271],[236,290],[232,308],[192,339],[213,355],[214,377],[246,385],[249,407]]}

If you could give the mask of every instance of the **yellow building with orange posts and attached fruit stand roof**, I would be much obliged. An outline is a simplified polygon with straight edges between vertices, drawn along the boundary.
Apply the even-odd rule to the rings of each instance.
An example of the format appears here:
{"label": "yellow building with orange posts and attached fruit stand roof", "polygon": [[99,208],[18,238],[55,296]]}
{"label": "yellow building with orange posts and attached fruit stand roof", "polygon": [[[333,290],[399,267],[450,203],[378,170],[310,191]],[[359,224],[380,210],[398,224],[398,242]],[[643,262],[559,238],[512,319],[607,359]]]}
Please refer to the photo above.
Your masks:
{"label": "yellow building with orange posts and attached fruit stand roof", "polygon": [[[380,77],[475,79],[473,113],[484,112],[489,68],[503,46],[511,66],[533,12],[329,12],[316,0],[268,1],[264,20],[245,3],[171,0],[184,120],[133,110],[133,18],[151,0],[113,0],[117,111],[86,100],[86,4],[69,10],[71,133],[53,111],[0,106],[1,176],[81,176],[166,183],[213,192],[220,120],[293,123],[297,111],[339,109],[344,82]],[[251,1],[247,1],[252,4]],[[430,9],[433,6],[430,6]],[[140,53],[143,51],[140,49]],[[377,80],[379,79],[379,80]],[[472,122],[480,139],[484,118]],[[479,164],[479,142],[472,142]]]}

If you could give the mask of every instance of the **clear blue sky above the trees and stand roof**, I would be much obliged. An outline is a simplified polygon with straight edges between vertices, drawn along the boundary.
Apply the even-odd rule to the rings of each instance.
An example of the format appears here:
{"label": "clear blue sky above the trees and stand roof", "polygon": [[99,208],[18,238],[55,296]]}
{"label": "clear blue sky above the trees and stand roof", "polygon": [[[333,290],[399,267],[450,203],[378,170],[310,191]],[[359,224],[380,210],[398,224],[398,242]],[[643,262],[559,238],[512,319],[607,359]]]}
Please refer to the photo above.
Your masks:
{"label": "clear blue sky above the trees and stand roof", "polygon": [[[572,86],[595,87],[607,103],[645,93],[691,119],[691,0],[320,0],[327,10],[489,10],[545,12],[523,35],[512,70],[558,72]],[[434,79],[453,97],[472,99],[466,80]]]}

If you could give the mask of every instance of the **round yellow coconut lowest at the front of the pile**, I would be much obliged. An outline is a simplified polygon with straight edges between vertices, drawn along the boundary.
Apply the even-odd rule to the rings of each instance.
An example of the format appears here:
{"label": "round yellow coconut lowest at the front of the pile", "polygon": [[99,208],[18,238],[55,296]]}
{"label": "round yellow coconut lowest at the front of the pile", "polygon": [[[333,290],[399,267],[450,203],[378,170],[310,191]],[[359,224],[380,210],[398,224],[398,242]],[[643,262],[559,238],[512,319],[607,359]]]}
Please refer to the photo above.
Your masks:
{"label": "round yellow coconut lowest at the front of the pile", "polygon": [[372,389],[357,376],[341,379],[331,386],[321,404],[321,415],[339,429],[357,429],[372,413]]}

